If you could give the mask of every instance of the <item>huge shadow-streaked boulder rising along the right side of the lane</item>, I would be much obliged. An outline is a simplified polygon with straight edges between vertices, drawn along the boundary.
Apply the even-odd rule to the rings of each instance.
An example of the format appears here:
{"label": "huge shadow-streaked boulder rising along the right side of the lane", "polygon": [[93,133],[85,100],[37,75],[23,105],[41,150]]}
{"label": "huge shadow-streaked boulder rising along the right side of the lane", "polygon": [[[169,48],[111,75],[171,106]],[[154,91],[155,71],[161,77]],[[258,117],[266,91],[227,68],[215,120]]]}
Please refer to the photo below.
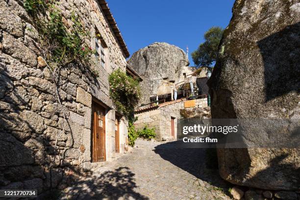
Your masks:
{"label": "huge shadow-streaked boulder rising along the right side of the lane", "polygon": [[[208,81],[212,118],[299,119],[299,0],[236,0],[232,12]],[[299,190],[299,149],[219,149],[218,159],[231,183]]]}

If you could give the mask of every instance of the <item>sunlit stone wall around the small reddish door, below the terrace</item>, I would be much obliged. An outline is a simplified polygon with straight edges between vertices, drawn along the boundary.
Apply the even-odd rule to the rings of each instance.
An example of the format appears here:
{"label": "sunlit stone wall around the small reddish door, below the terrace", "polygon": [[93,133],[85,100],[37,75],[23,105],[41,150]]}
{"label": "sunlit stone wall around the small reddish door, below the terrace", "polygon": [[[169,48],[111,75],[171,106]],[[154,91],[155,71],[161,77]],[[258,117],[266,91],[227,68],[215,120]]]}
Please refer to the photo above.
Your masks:
{"label": "sunlit stone wall around the small reddish door, below the terrace", "polygon": [[[134,123],[137,129],[142,129],[146,125],[149,128],[155,128],[156,140],[172,140],[177,139],[177,119],[180,117],[181,109],[195,109],[207,107],[207,99],[197,99],[195,106],[184,108],[185,100],[175,100],[159,104],[149,110],[139,111],[135,114],[138,120]],[[175,118],[174,129],[175,138],[171,137],[171,118]]]}

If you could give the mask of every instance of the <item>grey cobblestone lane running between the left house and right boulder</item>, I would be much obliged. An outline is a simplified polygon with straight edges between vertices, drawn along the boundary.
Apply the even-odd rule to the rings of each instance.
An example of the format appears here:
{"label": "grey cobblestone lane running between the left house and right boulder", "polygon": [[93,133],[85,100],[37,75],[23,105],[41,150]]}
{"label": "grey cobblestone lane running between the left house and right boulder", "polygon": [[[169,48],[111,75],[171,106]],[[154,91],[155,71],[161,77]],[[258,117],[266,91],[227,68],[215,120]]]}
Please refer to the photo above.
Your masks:
{"label": "grey cobblestone lane running between the left house and right boulder", "polygon": [[[71,199],[230,200],[211,149],[174,149],[171,143],[138,140],[137,148],[93,170],[71,187]],[[74,193],[74,188],[76,188]],[[224,191],[224,192],[223,192]],[[69,199],[67,198],[67,199]]]}

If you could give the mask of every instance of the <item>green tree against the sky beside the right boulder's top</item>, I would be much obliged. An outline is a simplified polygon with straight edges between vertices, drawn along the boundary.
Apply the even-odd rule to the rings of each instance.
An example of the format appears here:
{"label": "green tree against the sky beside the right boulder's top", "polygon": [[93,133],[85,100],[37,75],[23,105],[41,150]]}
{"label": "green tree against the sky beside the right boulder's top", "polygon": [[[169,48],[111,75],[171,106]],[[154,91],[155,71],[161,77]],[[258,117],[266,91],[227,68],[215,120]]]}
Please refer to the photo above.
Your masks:
{"label": "green tree against the sky beside the right boulder's top", "polygon": [[210,66],[217,59],[218,47],[222,38],[223,28],[213,26],[204,33],[204,43],[192,52],[192,58],[196,67]]}

